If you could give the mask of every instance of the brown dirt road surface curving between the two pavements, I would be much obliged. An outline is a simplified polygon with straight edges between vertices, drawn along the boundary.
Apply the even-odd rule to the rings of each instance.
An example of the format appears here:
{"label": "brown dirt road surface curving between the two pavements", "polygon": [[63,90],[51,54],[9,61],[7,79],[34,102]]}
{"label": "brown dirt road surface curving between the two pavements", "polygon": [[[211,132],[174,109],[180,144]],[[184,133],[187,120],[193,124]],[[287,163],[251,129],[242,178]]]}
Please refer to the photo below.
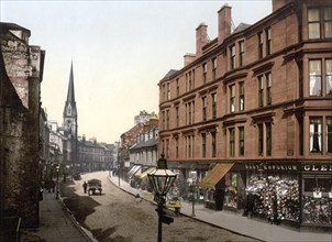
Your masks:
{"label": "brown dirt road surface curving between the two pavements", "polygon": [[[85,180],[98,178],[102,194],[84,193]],[[114,186],[108,172],[85,174],[80,180],[67,182],[62,197],[76,220],[92,232],[100,242],[155,242],[157,241],[156,206],[135,198]],[[168,212],[167,212],[168,213]],[[255,242],[257,240],[212,227],[195,219],[174,216],[174,223],[163,224],[164,242]]]}

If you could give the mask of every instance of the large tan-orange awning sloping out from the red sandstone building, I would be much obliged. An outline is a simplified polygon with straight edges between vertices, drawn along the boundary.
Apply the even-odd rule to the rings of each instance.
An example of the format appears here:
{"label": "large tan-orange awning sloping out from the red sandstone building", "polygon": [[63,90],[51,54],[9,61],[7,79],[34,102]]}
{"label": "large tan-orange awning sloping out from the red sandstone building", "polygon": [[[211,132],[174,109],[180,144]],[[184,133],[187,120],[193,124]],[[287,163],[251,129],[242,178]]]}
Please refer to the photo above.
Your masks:
{"label": "large tan-orange awning sloping out from the red sandstone building", "polygon": [[217,164],[213,169],[200,182],[198,187],[214,189],[215,184],[232,168],[234,163]]}

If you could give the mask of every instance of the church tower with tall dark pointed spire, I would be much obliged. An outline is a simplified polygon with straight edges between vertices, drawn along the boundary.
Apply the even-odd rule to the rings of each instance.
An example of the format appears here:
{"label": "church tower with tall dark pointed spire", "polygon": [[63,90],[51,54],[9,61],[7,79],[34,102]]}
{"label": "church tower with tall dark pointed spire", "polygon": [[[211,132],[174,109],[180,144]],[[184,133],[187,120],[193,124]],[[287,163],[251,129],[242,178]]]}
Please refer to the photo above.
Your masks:
{"label": "church tower with tall dark pointed spire", "polygon": [[75,101],[75,90],[74,90],[74,72],[73,72],[73,62],[70,67],[70,75],[69,75],[69,85],[68,85],[68,92],[67,92],[67,100],[64,108],[64,130],[65,136],[68,138],[69,143],[69,155],[68,161],[69,163],[77,163],[77,109],[76,109],[76,101]]}

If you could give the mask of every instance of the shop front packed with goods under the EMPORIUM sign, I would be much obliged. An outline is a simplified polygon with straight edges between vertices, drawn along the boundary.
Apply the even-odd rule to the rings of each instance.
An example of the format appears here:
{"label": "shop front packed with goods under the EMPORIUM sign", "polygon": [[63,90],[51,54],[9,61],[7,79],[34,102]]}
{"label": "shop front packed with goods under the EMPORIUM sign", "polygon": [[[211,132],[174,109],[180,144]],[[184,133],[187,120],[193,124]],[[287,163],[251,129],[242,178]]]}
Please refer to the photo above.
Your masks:
{"label": "shop front packed with goods under the EMPORIUM sign", "polygon": [[300,166],[298,163],[248,163],[246,215],[279,224],[300,222]]}

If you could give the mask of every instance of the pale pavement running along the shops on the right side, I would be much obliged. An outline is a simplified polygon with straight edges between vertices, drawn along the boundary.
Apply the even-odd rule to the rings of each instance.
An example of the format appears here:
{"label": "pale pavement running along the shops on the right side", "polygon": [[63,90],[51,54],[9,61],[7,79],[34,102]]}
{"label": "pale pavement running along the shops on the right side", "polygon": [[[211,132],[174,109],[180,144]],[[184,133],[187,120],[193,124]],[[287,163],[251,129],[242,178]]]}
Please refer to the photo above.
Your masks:
{"label": "pale pavement running along the shops on the right side", "polygon": [[[109,178],[115,186],[119,186],[118,176],[111,176]],[[122,179],[120,180],[120,188],[133,195],[140,194],[146,198],[144,191],[131,187]],[[181,202],[180,212],[184,216],[191,217],[192,205]],[[330,233],[300,231],[296,228],[270,224],[265,220],[248,219],[247,217],[242,217],[242,215],[231,211],[214,211],[204,208],[203,205],[195,205],[195,219],[197,220],[263,241],[332,242],[331,230]]]}

